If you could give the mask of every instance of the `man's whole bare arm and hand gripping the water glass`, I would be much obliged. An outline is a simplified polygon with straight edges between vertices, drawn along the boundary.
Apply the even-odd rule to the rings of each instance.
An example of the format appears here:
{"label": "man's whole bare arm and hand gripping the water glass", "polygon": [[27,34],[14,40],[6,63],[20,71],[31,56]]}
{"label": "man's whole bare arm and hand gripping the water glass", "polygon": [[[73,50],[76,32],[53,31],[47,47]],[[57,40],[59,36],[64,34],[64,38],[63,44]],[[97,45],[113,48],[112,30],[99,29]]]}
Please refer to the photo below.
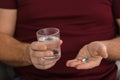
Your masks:
{"label": "man's whole bare arm and hand gripping the water glass", "polygon": [[28,44],[13,38],[16,15],[15,9],[0,9],[0,61],[13,67],[34,65],[38,69],[51,68],[58,60],[40,59],[43,56],[53,55],[45,44],[37,41]]}

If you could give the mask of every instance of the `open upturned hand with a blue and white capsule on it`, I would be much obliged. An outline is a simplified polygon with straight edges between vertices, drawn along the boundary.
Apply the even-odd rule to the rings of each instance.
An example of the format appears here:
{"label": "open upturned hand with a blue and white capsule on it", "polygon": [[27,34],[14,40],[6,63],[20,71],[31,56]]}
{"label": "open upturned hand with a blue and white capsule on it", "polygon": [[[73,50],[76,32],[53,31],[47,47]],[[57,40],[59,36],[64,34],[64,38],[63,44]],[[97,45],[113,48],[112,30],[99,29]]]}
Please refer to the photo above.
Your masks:
{"label": "open upturned hand with a blue and white capsule on it", "polygon": [[[75,59],[67,62],[67,66],[77,69],[91,69],[100,65],[102,57],[107,57],[105,46],[99,42],[93,42],[85,45]],[[84,58],[88,58],[88,60],[85,61]]]}

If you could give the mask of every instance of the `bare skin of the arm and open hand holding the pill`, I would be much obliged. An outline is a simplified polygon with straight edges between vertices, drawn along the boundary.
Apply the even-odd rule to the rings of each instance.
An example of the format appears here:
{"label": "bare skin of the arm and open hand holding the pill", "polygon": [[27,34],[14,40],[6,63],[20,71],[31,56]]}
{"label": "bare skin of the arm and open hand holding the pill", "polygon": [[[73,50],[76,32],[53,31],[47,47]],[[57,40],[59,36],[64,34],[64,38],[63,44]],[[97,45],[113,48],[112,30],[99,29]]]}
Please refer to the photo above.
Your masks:
{"label": "bare skin of the arm and open hand holding the pill", "polygon": [[[120,19],[116,19],[120,28]],[[66,65],[76,69],[92,69],[100,65],[102,59],[120,60],[120,37],[106,41],[95,41],[83,46],[75,59],[68,60]],[[84,57],[89,60],[83,62]]]}

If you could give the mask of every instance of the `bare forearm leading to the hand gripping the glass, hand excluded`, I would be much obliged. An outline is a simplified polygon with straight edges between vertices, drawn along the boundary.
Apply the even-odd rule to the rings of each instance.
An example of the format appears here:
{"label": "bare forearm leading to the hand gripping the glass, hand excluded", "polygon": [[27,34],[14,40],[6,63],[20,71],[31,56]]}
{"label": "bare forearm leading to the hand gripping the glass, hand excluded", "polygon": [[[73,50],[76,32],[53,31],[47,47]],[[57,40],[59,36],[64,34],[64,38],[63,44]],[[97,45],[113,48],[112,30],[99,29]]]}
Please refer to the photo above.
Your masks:
{"label": "bare forearm leading to the hand gripping the glass, hand excluded", "polygon": [[28,45],[0,34],[0,61],[11,66],[31,65],[29,54],[26,52]]}

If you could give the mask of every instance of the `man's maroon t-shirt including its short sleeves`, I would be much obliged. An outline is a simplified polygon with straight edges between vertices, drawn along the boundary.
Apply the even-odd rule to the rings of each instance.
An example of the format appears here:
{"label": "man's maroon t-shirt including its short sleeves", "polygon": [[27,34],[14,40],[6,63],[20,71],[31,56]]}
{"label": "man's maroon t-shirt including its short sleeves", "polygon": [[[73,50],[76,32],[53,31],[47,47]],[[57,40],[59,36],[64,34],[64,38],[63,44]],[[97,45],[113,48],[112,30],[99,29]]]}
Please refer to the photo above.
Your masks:
{"label": "man's maroon t-shirt including its short sleeves", "polygon": [[38,29],[57,26],[64,42],[62,57],[54,67],[19,67],[16,75],[26,80],[116,80],[115,62],[103,60],[88,70],[65,64],[85,44],[116,36],[114,18],[120,18],[120,0],[1,0],[0,7],[18,9],[16,39],[30,43],[36,40]]}

